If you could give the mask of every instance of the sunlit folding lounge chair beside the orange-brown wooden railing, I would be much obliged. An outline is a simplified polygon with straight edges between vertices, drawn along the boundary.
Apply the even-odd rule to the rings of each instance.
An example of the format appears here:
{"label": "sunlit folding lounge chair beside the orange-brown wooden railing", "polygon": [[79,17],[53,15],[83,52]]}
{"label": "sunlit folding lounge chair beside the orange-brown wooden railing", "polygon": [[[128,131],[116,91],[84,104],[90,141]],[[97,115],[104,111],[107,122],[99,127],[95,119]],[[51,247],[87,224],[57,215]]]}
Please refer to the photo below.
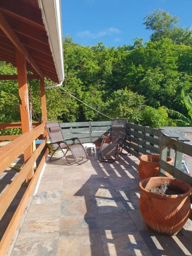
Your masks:
{"label": "sunlit folding lounge chair beside the orange-brown wooden railing", "polygon": [[[62,158],[64,156],[64,157],[66,157],[67,162],[70,164],[70,162],[66,156],[66,154],[69,150],[71,151],[72,156],[74,157],[74,160],[77,164],[79,164],[79,161],[77,161],[77,158],[81,158],[81,160],[83,160],[83,158],[85,158],[86,161],[88,160],[88,154],[84,150],[84,148],[78,138],[68,139],[68,140],[73,141],[72,145],[69,145],[67,143],[68,140],[64,139],[59,122],[47,122],[46,127],[47,127],[47,131],[49,134],[49,139],[51,141],[51,145],[53,147],[53,154],[50,157],[50,161],[54,161],[54,160]],[[75,140],[78,141],[78,144],[75,144]],[[56,158],[54,160],[51,160],[57,150],[61,150],[63,153],[63,156]],[[67,150],[66,153],[63,150]]]}

